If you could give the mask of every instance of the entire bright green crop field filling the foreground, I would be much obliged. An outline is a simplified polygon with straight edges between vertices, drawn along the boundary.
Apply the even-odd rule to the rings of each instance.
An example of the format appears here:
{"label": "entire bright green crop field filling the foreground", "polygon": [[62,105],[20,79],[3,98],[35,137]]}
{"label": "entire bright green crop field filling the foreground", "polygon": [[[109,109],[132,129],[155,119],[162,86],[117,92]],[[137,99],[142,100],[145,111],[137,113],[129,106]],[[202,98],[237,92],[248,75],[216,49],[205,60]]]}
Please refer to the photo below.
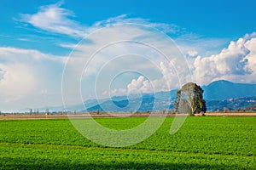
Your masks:
{"label": "entire bright green crop field filling the foreground", "polygon": [[[125,129],[143,117],[97,118]],[[69,120],[0,121],[0,169],[256,169],[256,117],[173,118],[150,138],[125,148],[85,139]]]}

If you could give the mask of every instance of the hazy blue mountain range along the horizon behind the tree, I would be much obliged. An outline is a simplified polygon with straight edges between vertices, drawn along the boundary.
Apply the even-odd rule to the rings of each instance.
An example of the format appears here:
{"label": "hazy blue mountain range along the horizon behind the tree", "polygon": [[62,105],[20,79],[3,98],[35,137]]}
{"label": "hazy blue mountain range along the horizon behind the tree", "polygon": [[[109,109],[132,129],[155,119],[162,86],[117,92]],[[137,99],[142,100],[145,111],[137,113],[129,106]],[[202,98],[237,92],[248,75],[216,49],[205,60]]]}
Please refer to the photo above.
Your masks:
{"label": "hazy blue mountain range along the horizon behind the tree", "polygon": [[[204,99],[207,101],[207,111],[222,110],[224,107],[230,110],[256,104],[256,84],[235,83],[224,80],[212,82],[202,86]],[[155,94],[114,96],[111,99],[89,99],[80,105],[67,106],[66,111],[159,111],[173,109],[177,89],[170,92],[158,92]],[[84,109],[86,108],[86,109]],[[64,107],[41,108],[39,111],[64,111]],[[24,110],[23,110],[24,111]],[[28,111],[28,110],[26,110]]]}

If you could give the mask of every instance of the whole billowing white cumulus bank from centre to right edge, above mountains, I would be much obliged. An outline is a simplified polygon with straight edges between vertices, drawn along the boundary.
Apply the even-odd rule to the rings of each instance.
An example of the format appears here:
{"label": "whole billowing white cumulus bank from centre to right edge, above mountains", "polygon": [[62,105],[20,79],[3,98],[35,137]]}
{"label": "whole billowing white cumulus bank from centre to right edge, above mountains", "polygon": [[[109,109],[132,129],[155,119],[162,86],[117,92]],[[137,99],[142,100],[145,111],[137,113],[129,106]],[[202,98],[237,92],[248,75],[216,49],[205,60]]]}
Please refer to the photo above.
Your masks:
{"label": "whole billowing white cumulus bank from centre to right edge, above mountains", "polygon": [[[231,41],[227,48],[218,54],[202,57],[196,51],[190,51],[189,59],[191,75],[195,82],[206,85],[217,80],[229,80],[231,82],[256,82],[256,34],[247,34],[237,41]],[[197,55],[197,56],[196,56]],[[137,89],[137,93],[154,93],[179,88],[179,78],[189,80],[187,77],[178,77],[177,65],[172,62],[166,64],[160,62],[159,69],[162,77],[147,80],[145,77],[133,79],[126,90]],[[149,88],[148,88],[149,87]]]}

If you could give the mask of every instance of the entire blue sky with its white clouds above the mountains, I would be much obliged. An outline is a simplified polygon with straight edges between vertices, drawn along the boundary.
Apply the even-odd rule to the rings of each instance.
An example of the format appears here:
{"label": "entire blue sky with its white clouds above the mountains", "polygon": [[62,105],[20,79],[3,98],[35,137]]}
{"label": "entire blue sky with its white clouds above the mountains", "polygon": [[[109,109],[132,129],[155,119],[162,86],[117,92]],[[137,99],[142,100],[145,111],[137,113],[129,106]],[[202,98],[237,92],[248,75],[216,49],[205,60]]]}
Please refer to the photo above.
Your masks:
{"label": "entire blue sky with its white clouds above the mountains", "polygon": [[[255,6],[256,2],[253,0],[150,2],[3,0],[0,4],[0,110],[16,111],[22,108],[62,105],[61,78],[70,53],[73,51],[71,57],[80,57],[77,52],[83,47],[83,54],[89,55],[90,50],[102,47],[103,42],[127,37],[125,32],[120,32],[120,29],[139,33],[140,36],[136,37],[132,33],[129,37],[137,41],[148,41],[148,35],[152,34],[150,41],[156,46],[159,45],[163,51],[168,48],[166,44],[170,45],[169,47],[173,44],[166,39],[160,41],[161,35],[155,32],[154,28],[171,37],[188,63],[191,73],[187,76],[201,85],[219,79],[256,83]],[[133,26],[114,27],[125,23],[131,23]],[[145,27],[136,25],[150,26],[153,29],[148,31]],[[103,29],[106,27],[109,27],[109,30]],[[90,36],[99,29],[102,29],[102,35],[98,33]],[[86,36],[90,37],[83,40]],[[101,41],[98,41],[98,37],[101,37]],[[74,48],[79,42],[80,46]],[[116,48],[130,52],[135,49],[132,45],[113,47],[114,50]],[[165,91],[178,88],[181,82],[189,81],[189,78],[183,75],[183,80],[178,77],[180,82],[177,83],[175,76],[177,72],[172,73],[172,70],[177,69],[173,68],[173,65],[178,63],[172,59],[171,65],[156,57],[158,54],[154,52],[148,54],[148,58],[138,57],[147,54],[148,49],[144,50],[143,48],[133,50],[133,53],[138,55],[136,59],[127,55],[130,61],[122,57],[120,59],[123,60],[111,60],[109,56],[113,54],[106,51],[103,55],[102,51],[95,60],[97,65],[90,67],[90,73],[92,72],[90,76],[85,72],[79,80],[85,87],[81,90],[82,99],[96,97],[95,80],[100,74],[94,71],[101,70],[101,65],[106,64],[109,59],[112,61],[112,67],[106,64],[105,69],[108,70],[105,72],[111,72],[110,68],[117,69],[113,72],[120,71],[119,65],[126,68],[125,62],[131,62],[132,71],[144,68],[138,71],[141,73],[144,71],[148,76],[139,74],[138,71],[133,73],[126,71],[127,74],[114,78],[111,89],[107,85],[99,86],[97,91],[99,98],[109,97],[107,94]],[[75,54],[78,55],[73,56]],[[121,53],[116,52],[116,54]],[[154,57],[150,57],[153,54]],[[131,61],[131,59],[135,60]],[[150,67],[147,59],[157,67]],[[143,64],[136,67],[137,61]],[[73,65],[68,65],[70,68],[81,63],[73,62]],[[83,65],[81,69],[82,67]],[[71,77],[76,77],[75,71],[69,76],[70,80]],[[168,79],[167,82],[163,82],[165,78]],[[107,81],[104,78],[102,80]],[[79,88],[79,86],[73,87],[71,84],[69,88]],[[67,94],[75,94],[70,89],[66,90]],[[67,105],[81,102],[81,99],[77,99],[78,95],[68,98],[71,100]]]}

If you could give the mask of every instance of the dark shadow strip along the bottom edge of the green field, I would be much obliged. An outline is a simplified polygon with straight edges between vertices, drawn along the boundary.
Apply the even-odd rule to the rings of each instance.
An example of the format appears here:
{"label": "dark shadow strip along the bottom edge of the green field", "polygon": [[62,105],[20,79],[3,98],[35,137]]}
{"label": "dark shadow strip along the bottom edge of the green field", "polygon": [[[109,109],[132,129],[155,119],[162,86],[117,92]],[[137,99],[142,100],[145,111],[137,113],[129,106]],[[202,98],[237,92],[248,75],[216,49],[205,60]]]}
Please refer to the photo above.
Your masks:
{"label": "dark shadow strip along the bottom edge of the green field", "polygon": [[0,169],[240,169],[236,166],[207,165],[196,163],[81,163],[73,161],[55,161],[47,159],[0,158]]}

